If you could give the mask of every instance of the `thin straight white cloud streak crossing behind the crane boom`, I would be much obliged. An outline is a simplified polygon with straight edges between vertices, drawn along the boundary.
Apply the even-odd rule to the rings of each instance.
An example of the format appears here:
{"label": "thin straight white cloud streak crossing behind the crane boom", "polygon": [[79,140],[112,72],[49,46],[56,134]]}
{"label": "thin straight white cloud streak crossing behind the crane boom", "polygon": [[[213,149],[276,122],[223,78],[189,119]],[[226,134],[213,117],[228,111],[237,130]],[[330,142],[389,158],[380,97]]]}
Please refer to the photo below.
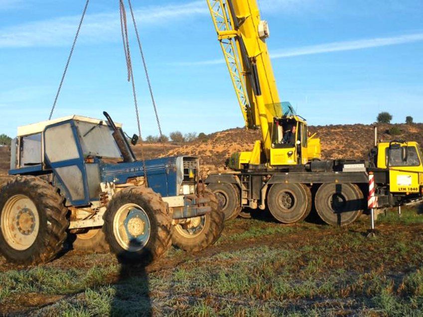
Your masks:
{"label": "thin straight white cloud streak crossing behind the crane boom", "polygon": [[[314,54],[323,54],[331,52],[341,52],[341,51],[352,51],[360,50],[372,47],[383,47],[391,45],[400,45],[407,43],[415,43],[423,41],[423,33],[415,34],[404,34],[399,36],[392,37],[375,37],[369,39],[361,39],[354,41],[341,41],[341,42],[331,42],[319,45],[309,45],[303,47],[288,48],[286,50],[278,50],[271,52],[271,57],[273,59],[277,58],[288,58],[302,55],[314,55]],[[205,61],[197,62],[177,62],[172,63],[172,65],[177,66],[199,66],[199,65],[216,65],[222,64],[225,61],[223,59],[212,59]]]}

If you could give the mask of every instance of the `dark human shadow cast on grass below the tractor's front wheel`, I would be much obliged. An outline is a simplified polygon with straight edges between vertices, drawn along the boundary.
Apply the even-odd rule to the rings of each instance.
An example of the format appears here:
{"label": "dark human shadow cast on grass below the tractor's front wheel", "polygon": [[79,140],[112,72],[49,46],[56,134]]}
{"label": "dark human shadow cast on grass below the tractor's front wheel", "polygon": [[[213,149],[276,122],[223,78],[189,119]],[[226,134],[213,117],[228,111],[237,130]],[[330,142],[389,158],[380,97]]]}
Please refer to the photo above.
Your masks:
{"label": "dark human shadow cast on grass below the tractor's front wheel", "polygon": [[[133,241],[131,241],[134,243]],[[152,262],[152,254],[144,250],[142,260],[118,254],[120,272],[114,285],[115,294],[110,307],[110,316],[152,316],[150,290],[146,266]]]}

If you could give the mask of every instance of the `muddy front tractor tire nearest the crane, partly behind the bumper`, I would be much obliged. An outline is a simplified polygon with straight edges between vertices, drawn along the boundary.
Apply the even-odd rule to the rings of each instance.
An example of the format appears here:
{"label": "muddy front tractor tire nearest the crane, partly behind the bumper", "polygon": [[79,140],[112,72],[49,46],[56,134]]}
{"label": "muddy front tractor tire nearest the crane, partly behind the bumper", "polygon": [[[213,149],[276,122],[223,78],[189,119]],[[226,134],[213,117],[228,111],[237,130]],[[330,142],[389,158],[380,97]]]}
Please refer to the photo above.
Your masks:
{"label": "muddy front tractor tire nearest the crane, partly behind the bumper", "polygon": [[202,216],[184,219],[173,229],[172,243],[184,251],[203,250],[215,243],[222,234],[225,215],[211,191],[206,190],[205,196],[210,199],[212,211]]}

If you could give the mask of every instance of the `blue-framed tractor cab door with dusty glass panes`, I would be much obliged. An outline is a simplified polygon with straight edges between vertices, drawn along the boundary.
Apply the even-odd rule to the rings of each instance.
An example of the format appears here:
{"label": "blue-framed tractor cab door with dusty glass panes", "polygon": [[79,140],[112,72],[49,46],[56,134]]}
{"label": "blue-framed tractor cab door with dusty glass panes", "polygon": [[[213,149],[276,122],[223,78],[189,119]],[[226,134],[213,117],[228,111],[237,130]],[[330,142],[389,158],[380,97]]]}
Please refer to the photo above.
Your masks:
{"label": "blue-framed tractor cab door with dusty glass panes", "polygon": [[66,195],[67,204],[90,201],[87,173],[73,120],[47,126],[43,132],[45,166],[53,170],[54,185]]}

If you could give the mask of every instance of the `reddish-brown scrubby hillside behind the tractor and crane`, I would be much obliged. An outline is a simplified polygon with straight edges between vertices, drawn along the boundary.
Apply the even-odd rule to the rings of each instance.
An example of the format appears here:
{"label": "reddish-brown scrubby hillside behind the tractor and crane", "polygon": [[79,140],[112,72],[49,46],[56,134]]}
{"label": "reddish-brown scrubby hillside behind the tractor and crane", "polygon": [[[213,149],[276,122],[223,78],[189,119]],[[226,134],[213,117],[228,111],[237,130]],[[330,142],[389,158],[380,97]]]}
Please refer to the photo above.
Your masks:
{"label": "reddish-brown scrubby hillside behind the tractor and crane", "polygon": [[[388,130],[398,127],[399,135],[391,136]],[[369,149],[373,146],[374,132],[372,125],[325,125],[310,126],[311,133],[317,132],[322,143],[322,156],[330,158],[366,159]],[[423,144],[423,123],[415,124],[379,124],[379,139],[405,139],[418,141]],[[224,171],[225,161],[233,152],[249,151],[254,141],[261,138],[259,130],[245,130],[233,128],[215,132],[207,136],[207,140],[195,140],[189,143],[144,143],[134,147],[134,152],[141,158],[141,149],[145,158],[195,155],[200,157],[201,164],[206,171]],[[10,151],[7,147],[0,147],[0,176],[7,174]]]}

